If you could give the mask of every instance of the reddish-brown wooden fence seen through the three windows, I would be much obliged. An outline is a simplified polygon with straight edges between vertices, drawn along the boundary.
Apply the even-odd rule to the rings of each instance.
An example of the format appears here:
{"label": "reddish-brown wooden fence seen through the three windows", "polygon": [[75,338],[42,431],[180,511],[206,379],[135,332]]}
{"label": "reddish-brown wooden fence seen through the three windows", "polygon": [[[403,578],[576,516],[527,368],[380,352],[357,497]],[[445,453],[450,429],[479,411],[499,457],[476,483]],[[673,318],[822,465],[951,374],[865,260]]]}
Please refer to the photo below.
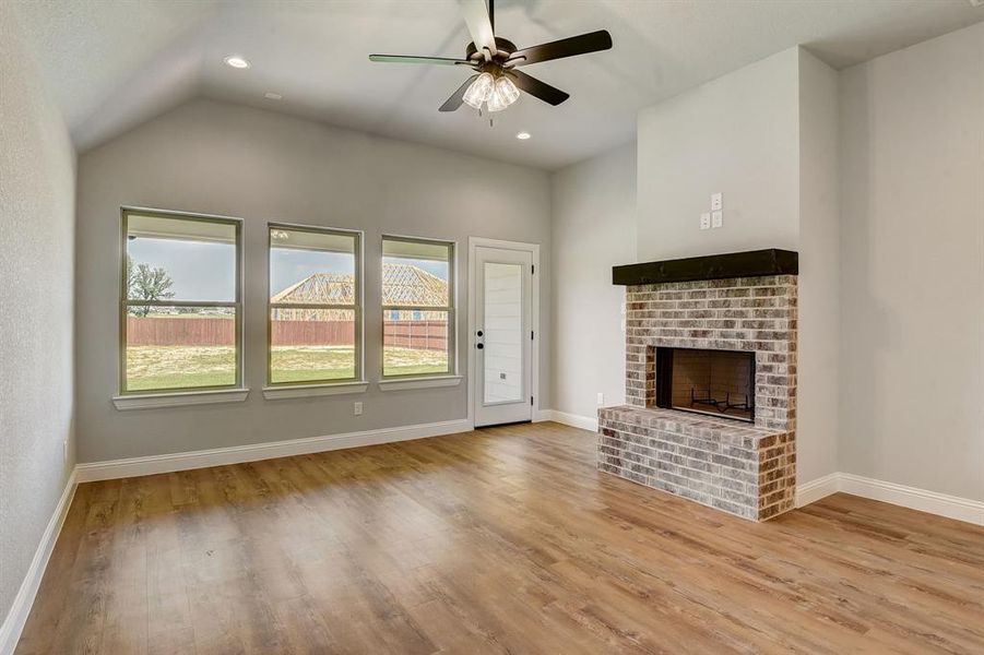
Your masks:
{"label": "reddish-brown wooden fence seen through the three windows", "polygon": [[[272,343],[277,346],[351,346],[353,321],[273,321]],[[384,321],[390,346],[426,350],[448,348],[447,321]],[[131,346],[232,346],[236,322],[221,318],[127,317]]]}

